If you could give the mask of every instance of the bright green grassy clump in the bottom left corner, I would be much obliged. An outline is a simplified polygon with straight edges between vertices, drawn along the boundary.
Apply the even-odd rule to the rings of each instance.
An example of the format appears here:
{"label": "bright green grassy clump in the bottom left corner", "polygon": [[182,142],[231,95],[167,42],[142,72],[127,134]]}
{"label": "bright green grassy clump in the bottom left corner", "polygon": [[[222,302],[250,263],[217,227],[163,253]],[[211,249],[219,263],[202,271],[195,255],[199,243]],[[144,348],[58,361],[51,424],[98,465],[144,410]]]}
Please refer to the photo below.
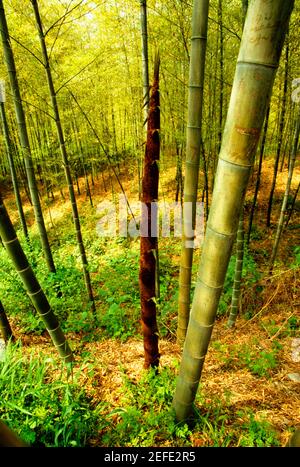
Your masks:
{"label": "bright green grassy clump in the bottom left corner", "polygon": [[80,385],[65,380],[66,368],[55,367],[52,359],[8,347],[0,362],[0,418],[32,446],[86,446],[99,414]]}

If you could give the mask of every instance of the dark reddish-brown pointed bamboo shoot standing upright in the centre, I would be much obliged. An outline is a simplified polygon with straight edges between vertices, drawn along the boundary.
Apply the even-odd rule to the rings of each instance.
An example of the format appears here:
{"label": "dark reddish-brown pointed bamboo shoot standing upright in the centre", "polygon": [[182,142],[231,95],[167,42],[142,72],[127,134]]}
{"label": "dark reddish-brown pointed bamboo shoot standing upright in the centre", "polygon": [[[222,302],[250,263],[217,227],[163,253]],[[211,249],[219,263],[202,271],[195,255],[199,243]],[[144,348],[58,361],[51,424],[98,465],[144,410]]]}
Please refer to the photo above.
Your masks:
{"label": "dark reddish-brown pointed bamboo shoot standing upright in the centre", "polygon": [[142,183],[142,218],[139,286],[141,322],[144,336],[144,367],[159,365],[158,328],[156,322],[156,251],[158,199],[158,161],[160,151],[159,58],[155,59],[154,81],[148,114],[147,143]]}

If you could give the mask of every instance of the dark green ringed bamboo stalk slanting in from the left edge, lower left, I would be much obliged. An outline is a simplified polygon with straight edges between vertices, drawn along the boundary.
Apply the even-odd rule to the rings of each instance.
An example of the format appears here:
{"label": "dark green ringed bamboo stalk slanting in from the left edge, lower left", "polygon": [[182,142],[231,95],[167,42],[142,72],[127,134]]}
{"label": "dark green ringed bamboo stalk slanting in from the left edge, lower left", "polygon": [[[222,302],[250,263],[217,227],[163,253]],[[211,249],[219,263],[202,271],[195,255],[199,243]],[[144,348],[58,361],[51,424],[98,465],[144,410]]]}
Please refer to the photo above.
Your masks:
{"label": "dark green ringed bamboo stalk slanting in from the left edge, lower left", "polygon": [[47,297],[41,289],[41,286],[28,263],[27,257],[17,238],[15,229],[3,203],[1,193],[0,235],[5,245],[6,251],[24,284],[27,294],[36,311],[40,314],[40,317],[42,318],[59,355],[64,359],[65,362],[72,362],[74,360],[72,351],[61,330],[59,322],[53,313]]}

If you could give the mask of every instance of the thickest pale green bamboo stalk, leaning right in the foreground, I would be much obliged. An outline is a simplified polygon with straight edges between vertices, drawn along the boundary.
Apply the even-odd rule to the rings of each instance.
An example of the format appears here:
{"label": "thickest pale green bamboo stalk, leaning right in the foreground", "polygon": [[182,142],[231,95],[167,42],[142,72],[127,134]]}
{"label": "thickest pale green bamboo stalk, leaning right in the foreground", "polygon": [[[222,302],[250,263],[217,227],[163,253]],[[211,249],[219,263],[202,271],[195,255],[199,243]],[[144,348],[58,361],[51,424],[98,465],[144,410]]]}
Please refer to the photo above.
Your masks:
{"label": "thickest pale green bamboo stalk, leaning right in the foreground", "polygon": [[174,397],[178,420],[193,410],[293,5],[252,0],[248,7]]}

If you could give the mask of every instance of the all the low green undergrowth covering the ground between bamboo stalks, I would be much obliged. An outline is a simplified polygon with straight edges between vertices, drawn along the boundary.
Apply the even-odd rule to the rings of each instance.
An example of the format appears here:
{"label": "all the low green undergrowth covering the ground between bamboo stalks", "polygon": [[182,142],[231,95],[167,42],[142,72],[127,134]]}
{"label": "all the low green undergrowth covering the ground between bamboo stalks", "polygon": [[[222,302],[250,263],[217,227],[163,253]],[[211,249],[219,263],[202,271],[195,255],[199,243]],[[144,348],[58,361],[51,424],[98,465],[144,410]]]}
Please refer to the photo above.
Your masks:
{"label": "all the low green undergrowth covering the ground between bamboo stalks", "polygon": [[[91,220],[83,222],[90,229]],[[27,245],[20,234],[40,283],[64,332],[81,333],[85,341],[107,338],[125,342],[140,338],[140,299],[138,287],[139,242],[107,239],[90,235],[86,242],[89,270],[97,307],[97,327],[87,300],[80,255],[69,223],[61,223],[53,248],[57,265],[49,274],[37,236],[31,232]],[[52,232],[54,235],[54,233]],[[157,300],[160,336],[175,339],[177,327],[178,273],[180,241],[160,242],[160,298]],[[299,265],[294,251],[292,266]],[[196,264],[196,262],[195,262]],[[193,272],[197,266],[194,265]],[[235,256],[232,256],[218,314],[225,317],[230,306]],[[34,311],[5,250],[0,249],[0,297],[18,332],[41,334],[44,324]],[[243,288],[253,295],[260,291],[257,260],[248,250],[244,256]],[[192,283],[194,290],[195,281]],[[58,293],[59,292],[59,293]],[[251,313],[251,307],[247,309]],[[250,316],[250,315],[249,315]],[[265,322],[270,335],[278,324]],[[278,336],[296,336],[298,317],[291,316]],[[281,346],[255,340],[246,345],[213,344],[218,361],[225,369],[246,369],[255,378],[270,378],[280,366]],[[94,363],[91,363],[93,366]],[[209,398],[202,390],[196,398],[195,418],[191,424],[177,423],[172,409],[178,363],[172,368],[144,372],[133,379],[123,369],[118,403],[113,407],[95,406],[80,383],[71,375],[62,377],[52,359],[22,355],[18,345],[9,346],[0,362],[0,418],[24,441],[33,446],[277,446],[277,433],[251,409],[235,409],[230,402]]]}

